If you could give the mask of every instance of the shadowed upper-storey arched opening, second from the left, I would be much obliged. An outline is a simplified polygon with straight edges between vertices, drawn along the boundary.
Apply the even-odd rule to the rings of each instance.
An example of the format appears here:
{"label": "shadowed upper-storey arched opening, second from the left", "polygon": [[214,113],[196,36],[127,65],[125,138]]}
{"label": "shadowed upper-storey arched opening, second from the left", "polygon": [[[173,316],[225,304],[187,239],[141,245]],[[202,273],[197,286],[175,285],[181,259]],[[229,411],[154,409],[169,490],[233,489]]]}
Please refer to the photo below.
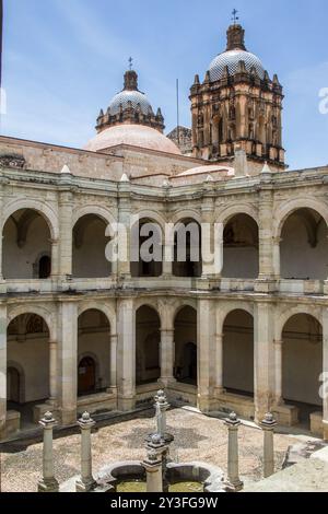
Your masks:
{"label": "shadowed upper-storey arched opening, second from the left", "polygon": [[72,273],[75,278],[107,278],[112,265],[106,259],[106,245],[110,237],[105,221],[96,214],[80,218],[73,229]]}

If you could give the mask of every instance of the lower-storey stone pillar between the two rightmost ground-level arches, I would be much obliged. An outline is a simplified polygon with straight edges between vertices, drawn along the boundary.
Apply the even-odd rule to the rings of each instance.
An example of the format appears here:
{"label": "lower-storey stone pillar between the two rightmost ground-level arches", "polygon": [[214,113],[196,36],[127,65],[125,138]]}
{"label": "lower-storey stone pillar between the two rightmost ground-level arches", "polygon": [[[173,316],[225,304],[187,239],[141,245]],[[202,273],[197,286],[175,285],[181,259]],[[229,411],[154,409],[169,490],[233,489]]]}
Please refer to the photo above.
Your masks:
{"label": "lower-storey stone pillar between the two rightmost ground-level arches", "polygon": [[260,422],[274,402],[274,340],[273,305],[255,304],[254,318],[254,378],[255,419]]}

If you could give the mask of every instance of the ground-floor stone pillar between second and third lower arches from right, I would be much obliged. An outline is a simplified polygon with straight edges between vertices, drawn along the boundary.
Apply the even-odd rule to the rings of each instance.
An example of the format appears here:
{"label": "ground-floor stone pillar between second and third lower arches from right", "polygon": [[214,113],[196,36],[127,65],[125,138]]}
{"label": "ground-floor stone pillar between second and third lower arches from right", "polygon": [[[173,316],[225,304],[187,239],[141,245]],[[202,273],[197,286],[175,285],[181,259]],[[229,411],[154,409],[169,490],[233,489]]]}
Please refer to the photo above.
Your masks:
{"label": "ground-floor stone pillar between second and third lower arches from right", "polygon": [[215,301],[199,300],[197,312],[198,331],[198,408],[209,412],[215,387]]}

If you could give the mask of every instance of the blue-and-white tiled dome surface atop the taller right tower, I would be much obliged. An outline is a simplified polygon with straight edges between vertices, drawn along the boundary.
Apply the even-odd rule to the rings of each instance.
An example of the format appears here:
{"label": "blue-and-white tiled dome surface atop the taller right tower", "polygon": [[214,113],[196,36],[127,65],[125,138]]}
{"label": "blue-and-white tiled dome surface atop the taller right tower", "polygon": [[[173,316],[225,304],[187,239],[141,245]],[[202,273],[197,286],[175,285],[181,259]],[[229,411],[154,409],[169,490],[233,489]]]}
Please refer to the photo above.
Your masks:
{"label": "blue-and-white tiled dome surface atop the taller right tower", "polygon": [[224,51],[212,60],[209,68],[211,81],[214,82],[216,80],[222,79],[226,66],[230,74],[234,75],[238,70],[239,61],[245,62],[246,70],[248,72],[250,72],[251,69],[255,68],[259,78],[265,78],[265,68],[257,56],[255,56],[250,51],[235,49]]}

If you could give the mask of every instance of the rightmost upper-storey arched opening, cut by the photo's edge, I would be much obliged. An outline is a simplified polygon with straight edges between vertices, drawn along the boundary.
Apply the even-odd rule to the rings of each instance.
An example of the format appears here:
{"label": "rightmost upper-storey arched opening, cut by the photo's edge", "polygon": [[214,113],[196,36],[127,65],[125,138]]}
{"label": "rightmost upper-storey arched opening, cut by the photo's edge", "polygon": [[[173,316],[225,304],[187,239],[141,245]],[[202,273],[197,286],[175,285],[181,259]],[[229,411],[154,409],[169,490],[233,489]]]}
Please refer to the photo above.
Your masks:
{"label": "rightmost upper-storey arched opening, cut by the photo's edge", "polygon": [[328,231],[312,209],[298,209],[284,222],[280,243],[280,274],[284,279],[326,280]]}

